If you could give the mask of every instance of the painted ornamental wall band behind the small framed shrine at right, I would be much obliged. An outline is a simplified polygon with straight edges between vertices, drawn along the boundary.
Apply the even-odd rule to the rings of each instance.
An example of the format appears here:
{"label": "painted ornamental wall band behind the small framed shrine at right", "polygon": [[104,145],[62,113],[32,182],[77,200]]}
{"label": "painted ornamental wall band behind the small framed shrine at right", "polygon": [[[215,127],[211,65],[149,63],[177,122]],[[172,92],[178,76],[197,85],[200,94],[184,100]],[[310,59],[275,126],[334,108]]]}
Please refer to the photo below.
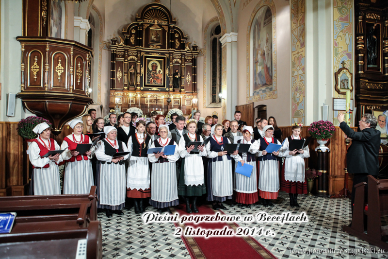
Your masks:
{"label": "painted ornamental wall band behind the small framed shrine at right", "polygon": [[[353,73],[353,1],[334,0],[333,1],[333,86],[335,85],[334,73],[341,68],[341,63],[345,62],[345,68]],[[333,87],[334,98],[345,98]],[[353,99],[353,94],[352,97]],[[333,111],[334,125],[338,124],[337,115],[341,111]],[[343,111],[342,111],[343,112]],[[351,114],[351,117],[353,115]]]}

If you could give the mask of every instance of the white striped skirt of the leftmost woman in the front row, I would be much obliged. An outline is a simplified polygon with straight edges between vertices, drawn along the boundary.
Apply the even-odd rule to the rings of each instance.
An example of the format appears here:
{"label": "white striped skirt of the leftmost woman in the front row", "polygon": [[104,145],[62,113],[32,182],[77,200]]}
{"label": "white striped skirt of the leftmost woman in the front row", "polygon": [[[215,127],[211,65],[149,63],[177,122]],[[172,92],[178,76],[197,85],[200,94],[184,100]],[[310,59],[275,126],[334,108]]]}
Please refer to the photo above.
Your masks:
{"label": "white striped skirt of the leftmost woman in the front row", "polygon": [[32,177],[34,195],[61,194],[58,165],[50,162],[49,168],[34,168]]}

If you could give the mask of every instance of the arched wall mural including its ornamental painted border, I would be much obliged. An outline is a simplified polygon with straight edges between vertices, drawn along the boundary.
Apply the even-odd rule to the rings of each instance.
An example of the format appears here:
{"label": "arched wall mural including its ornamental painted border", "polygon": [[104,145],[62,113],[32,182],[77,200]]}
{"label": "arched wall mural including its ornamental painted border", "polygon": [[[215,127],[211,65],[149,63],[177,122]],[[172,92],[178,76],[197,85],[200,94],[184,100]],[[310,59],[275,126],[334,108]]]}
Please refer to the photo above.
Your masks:
{"label": "arched wall mural including its ornamental painted border", "polygon": [[275,4],[256,5],[247,30],[247,102],[277,98]]}

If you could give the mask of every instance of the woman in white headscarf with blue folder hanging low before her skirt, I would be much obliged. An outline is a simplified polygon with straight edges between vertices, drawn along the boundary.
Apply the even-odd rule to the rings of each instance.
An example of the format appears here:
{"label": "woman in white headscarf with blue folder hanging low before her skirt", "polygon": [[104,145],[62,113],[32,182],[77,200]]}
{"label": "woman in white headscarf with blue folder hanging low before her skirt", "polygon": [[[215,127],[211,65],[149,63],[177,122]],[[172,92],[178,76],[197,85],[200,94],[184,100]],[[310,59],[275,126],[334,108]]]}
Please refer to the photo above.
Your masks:
{"label": "woman in white headscarf with blue folder hanging low before her skirt", "polygon": [[[235,173],[233,190],[236,197],[235,201],[239,203],[239,207],[242,207],[244,204],[246,207],[250,208],[251,204],[254,204],[259,201],[258,196],[258,184],[257,184],[257,173],[256,173],[256,153],[259,152],[259,142],[255,139],[252,139],[253,128],[251,126],[246,126],[242,128],[243,138],[238,140],[238,143],[250,144],[248,153],[239,153],[239,156],[242,157],[245,163],[253,166],[251,177],[247,177],[240,173]],[[239,160],[241,159],[239,157]],[[237,163],[235,164],[235,172],[237,168]]]}

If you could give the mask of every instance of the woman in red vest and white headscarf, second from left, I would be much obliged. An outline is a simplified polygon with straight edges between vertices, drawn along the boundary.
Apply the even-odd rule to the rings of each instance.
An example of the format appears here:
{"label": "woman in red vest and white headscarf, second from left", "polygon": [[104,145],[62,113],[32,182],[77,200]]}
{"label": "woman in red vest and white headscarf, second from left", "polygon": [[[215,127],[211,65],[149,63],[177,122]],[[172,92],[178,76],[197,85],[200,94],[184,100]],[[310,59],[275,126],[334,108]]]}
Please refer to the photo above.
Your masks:
{"label": "woman in red vest and white headscarf, second from left", "polygon": [[75,149],[77,144],[92,144],[92,140],[89,136],[82,134],[84,125],[81,120],[70,121],[69,126],[73,129],[73,133],[65,137],[61,145],[61,149],[68,148],[62,153],[66,162],[64,194],[89,193],[90,188],[94,185],[90,160],[94,155],[94,147],[85,154],[80,154]]}

